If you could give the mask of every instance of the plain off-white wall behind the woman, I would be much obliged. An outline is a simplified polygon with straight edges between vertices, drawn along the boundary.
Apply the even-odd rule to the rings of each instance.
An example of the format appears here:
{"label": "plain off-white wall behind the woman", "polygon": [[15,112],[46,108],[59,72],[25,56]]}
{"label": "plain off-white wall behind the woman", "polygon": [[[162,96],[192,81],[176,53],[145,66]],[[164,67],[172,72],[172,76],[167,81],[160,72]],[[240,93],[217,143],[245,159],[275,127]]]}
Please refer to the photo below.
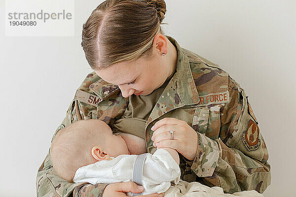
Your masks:
{"label": "plain off-white wall behind the woman", "polygon": [[[1,197],[36,196],[37,168],[76,88],[92,71],[80,34],[101,2],[75,0],[73,37],[6,37],[0,1]],[[271,164],[264,196],[294,196],[296,2],[166,2],[165,33],[220,65],[249,95]]]}

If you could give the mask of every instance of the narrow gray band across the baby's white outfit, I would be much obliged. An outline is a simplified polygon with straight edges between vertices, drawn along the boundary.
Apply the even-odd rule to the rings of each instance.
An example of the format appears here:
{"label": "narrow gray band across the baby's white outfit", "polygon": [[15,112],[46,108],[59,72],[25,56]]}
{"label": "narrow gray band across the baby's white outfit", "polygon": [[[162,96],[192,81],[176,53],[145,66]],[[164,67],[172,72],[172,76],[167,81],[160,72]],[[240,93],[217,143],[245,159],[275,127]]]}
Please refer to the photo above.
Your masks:
{"label": "narrow gray band across the baby's white outfit", "polygon": [[[146,159],[148,153],[144,153],[141,155],[138,155],[138,157],[135,160],[134,163],[134,167],[133,167],[133,181],[137,184],[137,185],[141,185],[143,186],[142,183],[142,176],[143,176],[143,167],[144,167],[144,161]],[[141,193],[132,193],[132,196],[141,196]]]}

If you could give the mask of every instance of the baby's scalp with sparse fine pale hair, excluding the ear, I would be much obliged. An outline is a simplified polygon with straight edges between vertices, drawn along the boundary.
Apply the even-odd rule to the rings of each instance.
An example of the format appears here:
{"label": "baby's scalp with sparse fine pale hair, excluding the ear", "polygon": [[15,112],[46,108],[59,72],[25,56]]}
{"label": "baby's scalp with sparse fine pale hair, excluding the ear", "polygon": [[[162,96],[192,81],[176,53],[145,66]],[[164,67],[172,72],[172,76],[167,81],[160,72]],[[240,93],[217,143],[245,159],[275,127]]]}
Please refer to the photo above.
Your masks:
{"label": "baby's scalp with sparse fine pale hair, excluding the ear", "polygon": [[87,128],[86,124],[86,120],[81,120],[58,131],[49,149],[54,170],[70,183],[79,167],[96,162],[91,155],[92,147],[98,141],[104,145],[101,133]]}

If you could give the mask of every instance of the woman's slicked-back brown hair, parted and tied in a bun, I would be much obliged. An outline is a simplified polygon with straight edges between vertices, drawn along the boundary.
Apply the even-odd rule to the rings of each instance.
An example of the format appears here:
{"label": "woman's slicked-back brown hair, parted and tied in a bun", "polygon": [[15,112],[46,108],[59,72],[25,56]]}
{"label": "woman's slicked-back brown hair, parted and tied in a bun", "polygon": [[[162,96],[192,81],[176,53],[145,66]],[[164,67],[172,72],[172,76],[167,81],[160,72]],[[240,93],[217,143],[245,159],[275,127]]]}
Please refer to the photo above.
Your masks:
{"label": "woman's slicked-back brown hair, parted and tied in a bun", "polygon": [[83,24],[82,42],[92,69],[122,61],[150,59],[153,38],[164,34],[160,24],[166,13],[164,0],[106,0]]}

